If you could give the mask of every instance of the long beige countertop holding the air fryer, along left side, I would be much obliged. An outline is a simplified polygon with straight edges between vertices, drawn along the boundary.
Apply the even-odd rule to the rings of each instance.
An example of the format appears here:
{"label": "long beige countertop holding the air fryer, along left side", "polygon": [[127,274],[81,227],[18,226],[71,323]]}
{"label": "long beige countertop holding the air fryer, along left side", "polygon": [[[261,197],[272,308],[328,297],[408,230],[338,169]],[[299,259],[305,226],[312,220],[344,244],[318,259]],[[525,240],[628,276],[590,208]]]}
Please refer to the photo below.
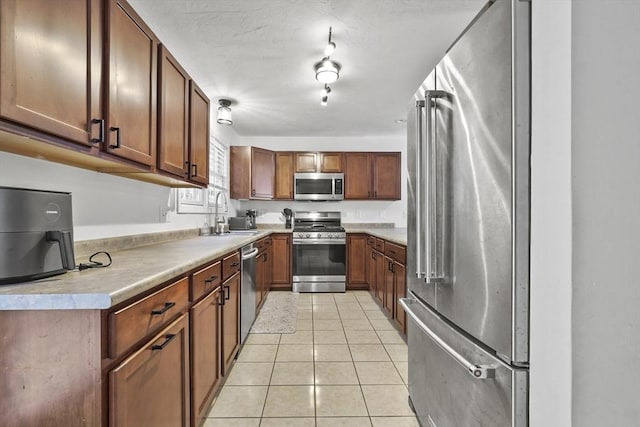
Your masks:
{"label": "long beige countertop holding the air fryer, along left side", "polygon": [[107,268],[0,286],[0,310],[107,309],[271,232],[201,236],[110,252],[113,263]]}

